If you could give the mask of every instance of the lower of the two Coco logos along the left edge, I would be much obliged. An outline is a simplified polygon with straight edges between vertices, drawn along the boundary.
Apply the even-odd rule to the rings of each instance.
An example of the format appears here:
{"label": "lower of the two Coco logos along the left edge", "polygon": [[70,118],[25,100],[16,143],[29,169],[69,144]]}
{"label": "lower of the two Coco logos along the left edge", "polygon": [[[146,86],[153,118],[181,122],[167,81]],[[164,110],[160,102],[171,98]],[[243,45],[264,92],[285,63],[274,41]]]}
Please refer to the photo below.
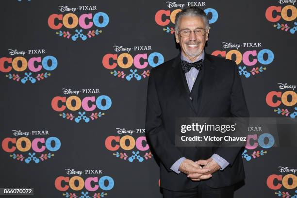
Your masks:
{"label": "lower of the two Coco logos along the left edge", "polygon": [[[35,164],[52,159],[54,152],[61,148],[58,137],[50,136],[49,131],[22,132],[12,130],[15,137],[6,137],[1,142],[4,152],[10,153],[10,157],[19,161]],[[30,135],[30,137],[28,137]],[[31,137],[37,136],[38,137]],[[41,135],[41,137],[39,136]],[[44,137],[47,136],[47,137]]]}

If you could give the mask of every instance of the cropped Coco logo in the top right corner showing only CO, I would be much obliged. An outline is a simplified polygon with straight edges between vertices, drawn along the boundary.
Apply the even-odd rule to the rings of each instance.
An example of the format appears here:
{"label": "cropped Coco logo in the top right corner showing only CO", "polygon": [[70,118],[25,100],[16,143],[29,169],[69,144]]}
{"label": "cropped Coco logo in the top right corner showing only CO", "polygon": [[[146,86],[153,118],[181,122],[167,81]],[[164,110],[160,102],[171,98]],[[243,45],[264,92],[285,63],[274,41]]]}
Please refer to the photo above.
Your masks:
{"label": "cropped Coco logo in the top right corner showing only CO", "polygon": [[[293,1],[279,0],[281,5],[271,5],[265,11],[265,17],[269,22],[274,23],[273,27],[291,34],[294,34],[297,30],[297,22],[293,23],[297,17],[297,8],[294,6],[295,2]],[[282,5],[283,3],[292,2],[293,5]]]}

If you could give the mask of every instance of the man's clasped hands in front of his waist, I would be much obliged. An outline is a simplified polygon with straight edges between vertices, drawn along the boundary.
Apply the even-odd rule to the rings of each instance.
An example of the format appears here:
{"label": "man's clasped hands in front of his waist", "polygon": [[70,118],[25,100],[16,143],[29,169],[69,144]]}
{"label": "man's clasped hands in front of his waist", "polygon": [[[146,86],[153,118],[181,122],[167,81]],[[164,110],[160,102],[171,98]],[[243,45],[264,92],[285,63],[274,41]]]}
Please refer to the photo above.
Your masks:
{"label": "man's clasped hands in front of his waist", "polygon": [[192,181],[200,181],[211,178],[212,174],[220,168],[221,167],[212,158],[198,160],[196,162],[185,159],[181,163],[179,171],[188,175],[187,177]]}

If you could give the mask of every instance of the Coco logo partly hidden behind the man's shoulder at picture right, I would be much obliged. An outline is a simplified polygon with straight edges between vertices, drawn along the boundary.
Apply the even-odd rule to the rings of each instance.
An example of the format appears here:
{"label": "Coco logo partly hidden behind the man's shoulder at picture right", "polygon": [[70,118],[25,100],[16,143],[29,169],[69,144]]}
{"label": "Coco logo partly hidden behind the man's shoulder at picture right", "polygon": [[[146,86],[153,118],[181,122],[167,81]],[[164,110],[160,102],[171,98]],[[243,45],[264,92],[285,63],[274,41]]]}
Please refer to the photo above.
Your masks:
{"label": "Coco logo partly hidden behind the man's shoulder at picture right", "polygon": [[[239,75],[249,78],[266,70],[266,66],[271,64],[274,60],[274,53],[270,49],[239,49],[250,47],[262,47],[261,43],[243,43],[232,46],[236,49],[227,49],[226,43],[223,42],[224,50],[215,50],[212,52],[214,56],[224,57],[226,59],[234,60],[239,68]],[[234,58],[235,57],[235,58]]]}

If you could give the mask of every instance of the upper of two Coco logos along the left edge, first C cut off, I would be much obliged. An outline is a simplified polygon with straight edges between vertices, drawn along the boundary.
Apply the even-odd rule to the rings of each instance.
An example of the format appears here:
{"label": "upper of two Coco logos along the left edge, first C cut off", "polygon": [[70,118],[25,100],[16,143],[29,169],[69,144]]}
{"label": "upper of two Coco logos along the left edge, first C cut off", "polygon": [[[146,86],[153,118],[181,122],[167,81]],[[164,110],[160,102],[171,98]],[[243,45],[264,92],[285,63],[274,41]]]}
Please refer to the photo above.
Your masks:
{"label": "upper of two Coco logos along the left edge, first C cut off", "polygon": [[58,66],[57,58],[46,55],[45,49],[8,49],[8,54],[0,57],[0,72],[5,73],[8,79],[22,84],[44,80]]}

